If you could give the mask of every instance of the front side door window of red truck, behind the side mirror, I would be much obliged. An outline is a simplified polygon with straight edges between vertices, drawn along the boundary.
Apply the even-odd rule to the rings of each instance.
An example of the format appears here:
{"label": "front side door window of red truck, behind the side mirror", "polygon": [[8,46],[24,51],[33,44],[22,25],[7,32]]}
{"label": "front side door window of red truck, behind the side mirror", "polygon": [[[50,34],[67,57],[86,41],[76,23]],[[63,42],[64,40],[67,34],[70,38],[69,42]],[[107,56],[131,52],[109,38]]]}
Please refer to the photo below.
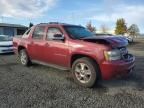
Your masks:
{"label": "front side door window of red truck, behind the side mirror", "polygon": [[58,28],[49,28],[48,32],[47,32],[47,39],[53,40],[55,34],[61,34],[62,35],[62,32]]}

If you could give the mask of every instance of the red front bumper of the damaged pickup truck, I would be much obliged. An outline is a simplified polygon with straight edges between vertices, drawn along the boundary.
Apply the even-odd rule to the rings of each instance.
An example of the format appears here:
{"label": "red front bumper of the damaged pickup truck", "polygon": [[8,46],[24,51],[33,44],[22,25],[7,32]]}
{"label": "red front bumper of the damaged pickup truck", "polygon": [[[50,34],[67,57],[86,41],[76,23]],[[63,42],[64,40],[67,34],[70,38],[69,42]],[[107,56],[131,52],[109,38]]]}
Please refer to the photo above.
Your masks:
{"label": "red front bumper of the damaged pickup truck", "polygon": [[135,57],[129,54],[128,59],[119,61],[104,61],[100,68],[102,79],[109,80],[120,75],[129,74],[135,66]]}

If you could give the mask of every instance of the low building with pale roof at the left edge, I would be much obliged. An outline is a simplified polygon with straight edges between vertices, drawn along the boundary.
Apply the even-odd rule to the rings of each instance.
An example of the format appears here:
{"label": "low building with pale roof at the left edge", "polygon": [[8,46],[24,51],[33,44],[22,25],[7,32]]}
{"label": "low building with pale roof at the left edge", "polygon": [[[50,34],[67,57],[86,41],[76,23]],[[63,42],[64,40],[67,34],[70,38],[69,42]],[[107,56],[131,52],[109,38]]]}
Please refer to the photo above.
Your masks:
{"label": "low building with pale roof at the left edge", "polygon": [[0,23],[0,35],[22,35],[28,27],[19,24]]}

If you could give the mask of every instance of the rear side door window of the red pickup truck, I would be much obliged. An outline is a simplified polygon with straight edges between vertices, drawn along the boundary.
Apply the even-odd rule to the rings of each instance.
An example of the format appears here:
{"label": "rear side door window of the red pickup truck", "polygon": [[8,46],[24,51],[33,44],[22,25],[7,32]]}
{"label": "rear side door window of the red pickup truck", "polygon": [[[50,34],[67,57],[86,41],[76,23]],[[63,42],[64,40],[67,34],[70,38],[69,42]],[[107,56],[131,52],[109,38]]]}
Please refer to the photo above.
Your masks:
{"label": "rear side door window of the red pickup truck", "polygon": [[37,26],[33,32],[34,39],[43,39],[45,34],[45,27],[44,26]]}

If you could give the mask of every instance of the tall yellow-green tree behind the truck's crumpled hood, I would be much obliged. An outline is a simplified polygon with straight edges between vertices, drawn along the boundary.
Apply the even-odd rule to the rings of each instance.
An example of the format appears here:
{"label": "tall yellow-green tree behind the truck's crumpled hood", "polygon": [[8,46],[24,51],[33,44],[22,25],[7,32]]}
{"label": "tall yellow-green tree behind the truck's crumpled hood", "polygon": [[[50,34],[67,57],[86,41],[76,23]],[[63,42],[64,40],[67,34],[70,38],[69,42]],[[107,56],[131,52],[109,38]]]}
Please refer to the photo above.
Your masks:
{"label": "tall yellow-green tree behind the truck's crumpled hood", "polygon": [[127,33],[127,26],[125,23],[125,19],[120,18],[116,22],[115,34],[124,35],[125,33]]}

